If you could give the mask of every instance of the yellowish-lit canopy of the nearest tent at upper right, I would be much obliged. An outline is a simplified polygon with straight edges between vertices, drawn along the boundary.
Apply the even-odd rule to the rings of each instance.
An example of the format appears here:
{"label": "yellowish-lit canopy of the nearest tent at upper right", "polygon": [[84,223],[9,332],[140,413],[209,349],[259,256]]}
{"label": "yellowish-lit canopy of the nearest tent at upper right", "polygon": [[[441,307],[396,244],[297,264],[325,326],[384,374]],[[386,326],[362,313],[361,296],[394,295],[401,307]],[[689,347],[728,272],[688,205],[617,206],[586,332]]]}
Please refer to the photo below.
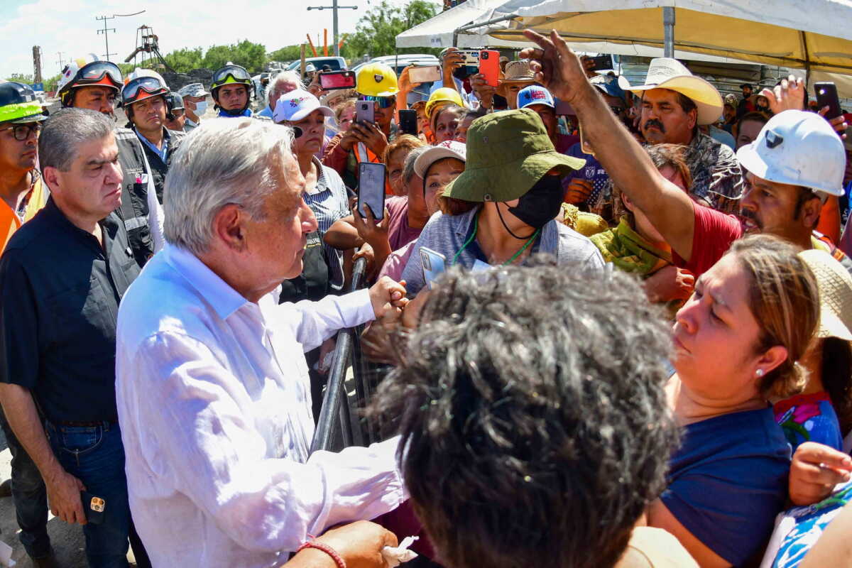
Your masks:
{"label": "yellowish-lit canopy of the nearest tent at upper right", "polygon": [[678,50],[852,74],[852,0],[511,0],[492,13],[519,18],[489,32],[516,40],[526,28],[556,29],[569,43],[661,49],[666,6],[675,8]]}

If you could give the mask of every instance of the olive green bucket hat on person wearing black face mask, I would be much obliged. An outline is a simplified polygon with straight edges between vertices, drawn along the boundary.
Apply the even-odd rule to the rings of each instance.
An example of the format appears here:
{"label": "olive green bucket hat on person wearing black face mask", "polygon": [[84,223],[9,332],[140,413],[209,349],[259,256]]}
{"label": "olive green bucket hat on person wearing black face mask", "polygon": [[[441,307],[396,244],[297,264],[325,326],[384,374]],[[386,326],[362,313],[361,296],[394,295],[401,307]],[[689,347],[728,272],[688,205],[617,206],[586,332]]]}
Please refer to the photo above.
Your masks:
{"label": "olive green bucket hat on person wearing black face mask", "polygon": [[551,169],[567,175],[584,166],[553,147],[532,109],[494,112],[470,124],[464,172],[444,189],[463,201],[511,201],[528,192]]}

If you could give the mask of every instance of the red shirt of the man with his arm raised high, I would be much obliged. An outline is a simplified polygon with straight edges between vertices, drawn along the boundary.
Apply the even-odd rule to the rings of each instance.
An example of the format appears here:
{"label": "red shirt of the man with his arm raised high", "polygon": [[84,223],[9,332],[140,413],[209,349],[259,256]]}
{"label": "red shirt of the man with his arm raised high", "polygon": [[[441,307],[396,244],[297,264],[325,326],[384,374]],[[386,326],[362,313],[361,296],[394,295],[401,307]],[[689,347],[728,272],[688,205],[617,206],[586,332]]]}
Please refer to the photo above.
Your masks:
{"label": "red shirt of the man with his arm raised high", "polygon": [[693,208],[695,228],[692,255],[687,262],[672,250],[671,257],[676,267],[684,268],[698,278],[722,258],[731,243],[742,237],[743,229],[734,215],[699,204],[693,204]]}

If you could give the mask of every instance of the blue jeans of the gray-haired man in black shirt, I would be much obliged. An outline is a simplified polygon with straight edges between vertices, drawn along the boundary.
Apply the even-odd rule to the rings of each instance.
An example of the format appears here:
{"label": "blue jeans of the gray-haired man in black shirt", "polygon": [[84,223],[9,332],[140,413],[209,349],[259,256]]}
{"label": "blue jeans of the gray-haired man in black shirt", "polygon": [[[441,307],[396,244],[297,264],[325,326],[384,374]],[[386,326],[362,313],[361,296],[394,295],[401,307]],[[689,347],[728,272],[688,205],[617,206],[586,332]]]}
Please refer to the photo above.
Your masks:
{"label": "blue jeans of the gray-haired man in black shirt", "polygon": [[[50,446],[66,472],[106,501],[101,525],[83,525],[91,568],[127,568],[130,503],[124,476],[124,445],[117,423],[68,427],[45,422]],[[83,503],[88,505],[88,503]]]}

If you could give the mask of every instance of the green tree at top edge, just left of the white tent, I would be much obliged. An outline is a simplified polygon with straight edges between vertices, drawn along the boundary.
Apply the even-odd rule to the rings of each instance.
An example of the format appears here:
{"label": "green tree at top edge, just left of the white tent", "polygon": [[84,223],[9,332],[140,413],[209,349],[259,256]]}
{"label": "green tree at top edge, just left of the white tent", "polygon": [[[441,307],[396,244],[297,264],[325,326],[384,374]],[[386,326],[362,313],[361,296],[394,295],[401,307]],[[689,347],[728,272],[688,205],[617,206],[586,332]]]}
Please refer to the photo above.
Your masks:
{"label": "green tree at top edge, just left of the white tent", "polygon": [[[394,6],[382,0],[358,21],[355,33],[343,43],[341,55],[349,60],[360,60],[363,55],[377,57],[397,53],[396,36],[417,26],[438,13],[438,6],[427,0],[411,0],[404,6]],[[430,53],[438,55],[440,49],[403,48],[400,54]]]}

